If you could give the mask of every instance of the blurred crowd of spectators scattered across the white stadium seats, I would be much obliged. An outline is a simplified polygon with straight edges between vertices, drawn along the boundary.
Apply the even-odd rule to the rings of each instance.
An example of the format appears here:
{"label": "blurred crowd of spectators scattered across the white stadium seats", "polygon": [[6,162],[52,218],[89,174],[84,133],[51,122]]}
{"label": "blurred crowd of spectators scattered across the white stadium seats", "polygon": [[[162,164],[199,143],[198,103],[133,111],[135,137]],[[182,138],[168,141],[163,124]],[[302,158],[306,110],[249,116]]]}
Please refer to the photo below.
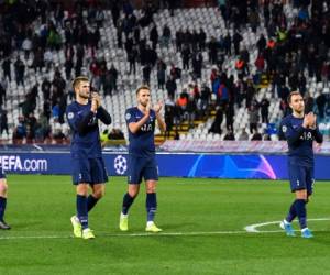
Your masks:
{"label": "blurred crowd of spectators scattered across the white stadium seats", "polygon": [[[233,121],[238,108],[246,108],[250,129],[248,136],[260,139],[261,123],[270,123],[270,100],[256,100],[260,85],[265,79],[272,87],[273,98],[280,100],[283,116],[289,112],[286,98],[290,90],[298,89],[306,98],[307,111],[317,109],[322,119],[330,108],[329,95],[320,92],[312,98],[307,82],[315,78],[329,86],[330,79],[330,4],[326,0],[292,0],[296,11],[287,18],[280,0],[218,0],[218,9],[228,28],[220,37],[208,36],[206,31],[178,30],[172,33],[168,25],[162,31],[156,28],[153,15],[160,8],[168,8],[175,16],[178,1],[145,1],[141,15],[136,15],[130,1],[6,1],[0,3],[0,105],[10,97],[9,81],[24,86],[26,70],[55,72],[52,79],[45,77],[25,94],[20,102],[20,120],[15,125],[14,139],[33,141],[52,140],[56,134],[61,142],[66,140],[61,128],[52,129],[50,119],[64,123],[67,98],[73,98],[70,80],[87,68],[91,85],[103,95],[118,92],[118,77],[141,74],[142,81],[150,84],[152,72],[156,72],[157,89],[166,89],[165,120],[166,136],[178,130],[184,121],[194,128],[196,119],[207,119],[216,109],[216,119],[209,129],[212,133],[226,132],[226,139],[234,140]],[[119,72],[113,64],[98,58],[100,31],[110,11],[117,29],[117,46],[125,51],[129,72]],[[264,25],[266,33],[261,32]],[[148,26],[148,36],[142,29]],[[257,36],[255,48],[243,45],[246,26]],[[175,46],[182,63],[166,63],[158,57],[157,48]],[[54,62],[54,51],[64,51],[65,62]],[[257,51],[256,59],[250,61],[251,52]],[[21,59],[19,52],[24,53]],[[209,79],[198,81],[206,69],[204,54],[212,66]],[[235,59],[237,76],[224,68],[229,58]],[[136,72],[136,64],[142,72]],[[182,65],[180,65],[182,64]],[[58,66],[65,67],[65,74]],[[182,66],[182,67],[180,67]],[[177,79],[188,72],[193,81],[182,90]],[[86,73],[86,72],[84,72]],[[230,75],[229,75],[230,74]],[[35,119],[36,102],[43,97],[43,110]],[[329,103],[328,103],[329,102]],[[1,133],[8,133],[7,110],[1,108]],[[226,119],[226,129],[222,129]],[[62,136],[64,135],[64,136]],[[261,138],[263,139],[263,136]]]}

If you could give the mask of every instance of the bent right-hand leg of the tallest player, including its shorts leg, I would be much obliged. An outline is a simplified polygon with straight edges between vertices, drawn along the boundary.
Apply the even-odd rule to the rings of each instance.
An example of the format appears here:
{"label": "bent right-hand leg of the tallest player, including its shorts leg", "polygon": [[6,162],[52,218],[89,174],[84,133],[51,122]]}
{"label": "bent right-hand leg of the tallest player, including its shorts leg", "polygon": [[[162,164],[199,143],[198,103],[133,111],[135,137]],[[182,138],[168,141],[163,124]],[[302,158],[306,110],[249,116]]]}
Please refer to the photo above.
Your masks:
{"label": "bent right-hand leg of the tallest player, including its shorts leg", "polygon": [[89,212],[96,204],[105,196],[106,185],[108,182],[108,175],[106,170],[106,165],[102,158],[90,160],[91,163],[91,189],[92,194],[90,194],[87,198],[87,211]]}

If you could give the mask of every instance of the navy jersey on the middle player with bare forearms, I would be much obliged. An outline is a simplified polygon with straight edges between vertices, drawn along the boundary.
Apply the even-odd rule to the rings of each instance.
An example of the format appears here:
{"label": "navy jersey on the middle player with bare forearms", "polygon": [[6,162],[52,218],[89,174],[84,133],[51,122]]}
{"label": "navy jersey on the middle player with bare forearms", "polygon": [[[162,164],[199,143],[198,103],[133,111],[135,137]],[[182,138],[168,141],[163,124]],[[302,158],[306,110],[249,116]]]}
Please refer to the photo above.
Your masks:
{"label": "navy jersey on the middle player with bare forearms", "polygon": [[[131,122],[138,122],[143,117],[144,113],[138,107],[129,108],[125,111],[128,127]],[[155,120],[156,113],[154,110],[151,110],[148,120],[136,133],[132,133],[129,129],[130,154],[146,157],[155,154]]]}

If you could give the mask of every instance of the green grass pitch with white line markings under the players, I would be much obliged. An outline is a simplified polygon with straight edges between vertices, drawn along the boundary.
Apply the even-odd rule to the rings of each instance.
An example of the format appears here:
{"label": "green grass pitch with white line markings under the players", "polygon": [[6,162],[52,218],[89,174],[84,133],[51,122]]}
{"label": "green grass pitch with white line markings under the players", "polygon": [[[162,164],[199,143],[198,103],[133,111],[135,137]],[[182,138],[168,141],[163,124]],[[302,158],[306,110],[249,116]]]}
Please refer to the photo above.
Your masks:
{"label": "green grass pitch with white line markings under the players", "polygon": [[[72,238],[69,176],[9,175],[8,182],[12,230],[0,231],[1,275],[330,274],[330,220],[309,222],[311,240],[244,231],[283,219],[294,199],[287,182],[161,178],[156,222],[164,234],[145,235],[144,186],[130,212],[130,231],[122,233],[127,180],[111,177],[90,213],[97,239],[87,241]],[[317,183],[309,218],[330,218],[329,198],[329,183]]]}

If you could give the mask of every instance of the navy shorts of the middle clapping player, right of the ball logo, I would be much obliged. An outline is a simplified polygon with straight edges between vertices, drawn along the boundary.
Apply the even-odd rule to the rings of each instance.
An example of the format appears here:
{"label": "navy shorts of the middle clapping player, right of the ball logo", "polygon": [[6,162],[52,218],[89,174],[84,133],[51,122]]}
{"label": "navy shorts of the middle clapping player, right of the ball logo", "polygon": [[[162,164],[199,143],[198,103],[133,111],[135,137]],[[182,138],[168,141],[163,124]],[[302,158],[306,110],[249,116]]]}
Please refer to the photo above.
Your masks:
{"label": "navy shorts of the middle clapping player, right of the ball logo", "polygon": [[158,166],[156,158],[152,157],[138,157],[129,156],[129,170],[128,182],[129,184],[139,185],[144,180],[158,180]]}

